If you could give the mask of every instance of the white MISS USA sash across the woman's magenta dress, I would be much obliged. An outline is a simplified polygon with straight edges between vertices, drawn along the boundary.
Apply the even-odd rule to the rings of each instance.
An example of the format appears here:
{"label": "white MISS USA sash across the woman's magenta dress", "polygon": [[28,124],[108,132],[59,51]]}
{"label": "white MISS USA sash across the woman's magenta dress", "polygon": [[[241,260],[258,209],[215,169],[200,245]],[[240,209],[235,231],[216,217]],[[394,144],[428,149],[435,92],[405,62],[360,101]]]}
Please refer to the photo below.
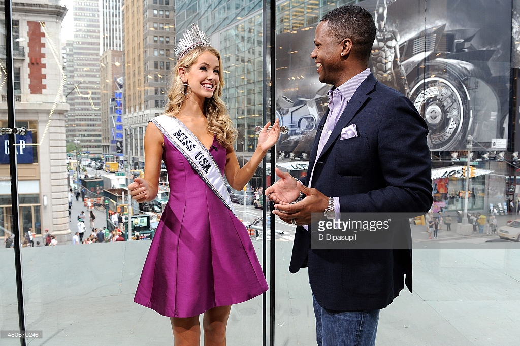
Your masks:
{"label": "white MISS USA sash across the woman's magenta dress", "polygon": [[217,195],[224,205],[236,215],[226,188],[226,181],[220,173],[209,150],[177,118],[165,114],[150,120],[163,132],[187,159],[191,167],[199,174],[207,186]]}

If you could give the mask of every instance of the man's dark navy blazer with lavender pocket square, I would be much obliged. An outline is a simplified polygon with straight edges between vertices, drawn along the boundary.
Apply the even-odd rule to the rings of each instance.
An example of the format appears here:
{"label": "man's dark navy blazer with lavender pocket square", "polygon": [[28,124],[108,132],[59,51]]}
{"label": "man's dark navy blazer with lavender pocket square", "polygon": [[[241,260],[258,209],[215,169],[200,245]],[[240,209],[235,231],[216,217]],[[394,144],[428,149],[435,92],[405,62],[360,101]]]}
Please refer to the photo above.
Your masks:
{"label": "man's dark navy blazer with lavender pocket square", "polygon": [[[340,197],[342,212],[427,212],[433,202],[431,159],[424,119],[408,98],[370,74],[356,90],[321,155],[321,119],[309,157],[311,188]],[[358,137],[340,139],[356,124]],[[404,229],[404,231],[403,231]],[[408,220],[397,235],[409,248],[318,250],[310,233],[296,228],[289,271],[308,267],[309,282],[321,307],[335,311],[383,309],[404,282],[411,291],[411,234]],[[403,239],[400,239],[402,241]],[[406,280],[405,280],[406,276]]]}

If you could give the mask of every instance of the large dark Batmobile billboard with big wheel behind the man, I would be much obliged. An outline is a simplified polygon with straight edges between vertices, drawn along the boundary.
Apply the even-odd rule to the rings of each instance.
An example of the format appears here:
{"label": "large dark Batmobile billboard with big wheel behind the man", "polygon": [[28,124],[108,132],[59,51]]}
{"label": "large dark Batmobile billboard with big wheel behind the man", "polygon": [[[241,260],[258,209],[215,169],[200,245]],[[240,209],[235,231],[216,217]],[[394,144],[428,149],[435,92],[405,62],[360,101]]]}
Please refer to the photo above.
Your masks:
{"label": "large dark Batmobile billboard with big wheel behind the man", "polygon": [[[476,150],[508,139],[511,1],[359,5],[373,14],[377,29],[372,73],[410,98],[430,129],[431,151],[465,150],[468,135]],[[277,112],[290,128],[279,147],[301,158],[310,151],[330,89],[310,58],[315,27],[277,36]]]}

